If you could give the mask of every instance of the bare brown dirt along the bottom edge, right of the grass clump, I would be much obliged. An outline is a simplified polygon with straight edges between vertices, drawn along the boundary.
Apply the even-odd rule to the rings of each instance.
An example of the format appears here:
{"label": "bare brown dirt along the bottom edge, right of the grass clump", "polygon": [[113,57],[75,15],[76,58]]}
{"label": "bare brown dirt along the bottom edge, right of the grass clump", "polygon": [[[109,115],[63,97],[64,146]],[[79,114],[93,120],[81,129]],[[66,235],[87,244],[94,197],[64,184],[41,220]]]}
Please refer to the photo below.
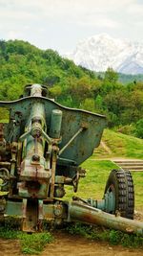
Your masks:
{"label": "bare brown dirt along the bottom edge, right of the grass clump", "polygon": [[42,256],[142,256],[142,250],[111,246],[107,243],[92,242],[87,239],[60,233],[54,244],[49,244]]}

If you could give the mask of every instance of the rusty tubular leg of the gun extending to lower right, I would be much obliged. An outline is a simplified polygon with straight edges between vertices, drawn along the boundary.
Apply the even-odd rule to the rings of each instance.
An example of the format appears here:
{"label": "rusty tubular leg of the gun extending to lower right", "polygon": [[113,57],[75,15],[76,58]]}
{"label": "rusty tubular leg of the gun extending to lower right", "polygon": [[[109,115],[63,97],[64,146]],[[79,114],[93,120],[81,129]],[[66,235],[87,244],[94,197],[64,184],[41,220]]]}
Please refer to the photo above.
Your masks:
{"label": "rusty tubular leg of the gun extending to lower right", "polygon": [[70,221],[104,225],[127,233],[143,235],[143,222],[114,216],[97,208],[93,208],[92,206],[78,202],[69,203],[69,217]]}

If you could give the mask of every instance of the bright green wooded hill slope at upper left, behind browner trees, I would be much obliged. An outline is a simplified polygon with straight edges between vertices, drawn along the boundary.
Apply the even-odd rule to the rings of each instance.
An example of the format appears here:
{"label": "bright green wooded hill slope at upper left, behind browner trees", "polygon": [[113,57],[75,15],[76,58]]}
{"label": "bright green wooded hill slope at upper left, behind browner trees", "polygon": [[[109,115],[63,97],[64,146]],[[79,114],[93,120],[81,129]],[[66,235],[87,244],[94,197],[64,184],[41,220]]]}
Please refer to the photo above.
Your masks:
{"label": "bright green wooded hill slope at upper left, behind browner trees", "polygon": [[[41,50],[22,40],[0,40],[0,69],[0,100],[17,99],[27,83],[64,87],[70,78],[94,77],[56,51]],[[59,93],[58,87],[56,95]]]}

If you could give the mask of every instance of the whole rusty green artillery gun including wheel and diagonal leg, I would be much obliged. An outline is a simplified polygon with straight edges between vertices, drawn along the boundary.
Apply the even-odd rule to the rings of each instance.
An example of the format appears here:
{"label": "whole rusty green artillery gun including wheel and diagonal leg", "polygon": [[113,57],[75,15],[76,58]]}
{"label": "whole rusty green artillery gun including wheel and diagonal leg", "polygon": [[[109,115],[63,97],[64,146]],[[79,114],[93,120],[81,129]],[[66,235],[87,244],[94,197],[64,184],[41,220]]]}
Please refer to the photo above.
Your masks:
{"label": "whole rusty green artillery gun including wheel and diagonal leg", "polygon": [[105,225],[143,234],[133,221],[134,195],[130,172],[112,170],[100,200],[73,197],[65,201],[65,185],[76,192],[80,164],[98,147],[105,116],[58,105],[39,84],[25,87],[22,98],[0,102],[10,111],[0,124],[0,216],[21,219],[22,230],[42,229],[69,221]]}

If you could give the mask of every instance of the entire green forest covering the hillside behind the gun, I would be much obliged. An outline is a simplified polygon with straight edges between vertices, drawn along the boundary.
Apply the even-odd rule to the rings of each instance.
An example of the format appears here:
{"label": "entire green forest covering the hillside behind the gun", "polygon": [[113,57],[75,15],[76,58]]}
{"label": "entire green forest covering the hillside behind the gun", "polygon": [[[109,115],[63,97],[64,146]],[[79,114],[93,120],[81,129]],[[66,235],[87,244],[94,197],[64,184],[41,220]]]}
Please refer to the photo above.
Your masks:
{"label": "entire green forest covering the hillside behind the gun", "polygon": [[[121,75],[110,67],[96,74],[29,42],[0,41],[1,101],[19,98],[27,83],[42,83],[56,102],[105,114],[109,128],[143,138],[142,76],[126,83],[125,77],[121,82]],[[2,111],[0,117],[5,118]]]}

